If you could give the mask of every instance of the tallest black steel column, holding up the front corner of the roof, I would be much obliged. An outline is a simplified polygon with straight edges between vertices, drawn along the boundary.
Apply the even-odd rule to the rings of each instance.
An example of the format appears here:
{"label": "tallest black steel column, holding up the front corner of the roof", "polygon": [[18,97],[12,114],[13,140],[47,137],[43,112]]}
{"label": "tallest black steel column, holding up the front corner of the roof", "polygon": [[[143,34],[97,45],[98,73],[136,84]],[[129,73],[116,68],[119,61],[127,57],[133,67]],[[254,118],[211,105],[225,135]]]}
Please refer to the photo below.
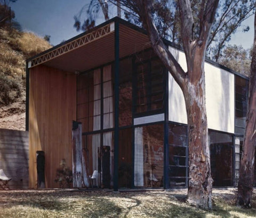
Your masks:
{"label": "tallest black steel column, holding up the front corner of the roof", "polygon": [[114,130],[114,191],[118,191],[119,142],[119,22],[115,21],[115,130]]}

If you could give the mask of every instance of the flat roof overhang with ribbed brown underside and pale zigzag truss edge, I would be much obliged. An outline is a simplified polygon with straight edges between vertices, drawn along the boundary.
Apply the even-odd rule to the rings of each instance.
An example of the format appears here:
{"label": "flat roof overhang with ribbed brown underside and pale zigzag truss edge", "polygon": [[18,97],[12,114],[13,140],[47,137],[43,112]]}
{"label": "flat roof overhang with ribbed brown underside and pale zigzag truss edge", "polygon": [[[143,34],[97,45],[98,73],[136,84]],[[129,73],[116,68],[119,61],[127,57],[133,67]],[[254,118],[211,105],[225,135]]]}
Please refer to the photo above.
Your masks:
{"label": "flat roof overhang with ribbed brown underside and pale zigzag truss edge", "polygon": [[[119,22],[117,30],[115,22]],[[115,42],[115,31],[119,31],[119,44]],[[115,46],[119,47],[119,58],[122,59],[148,49],[151,44],[145,30],[120,18],[113,18],[34,56],[28,60],[28,68],[44,64],[69,72],[83,72],[113,62]]]}

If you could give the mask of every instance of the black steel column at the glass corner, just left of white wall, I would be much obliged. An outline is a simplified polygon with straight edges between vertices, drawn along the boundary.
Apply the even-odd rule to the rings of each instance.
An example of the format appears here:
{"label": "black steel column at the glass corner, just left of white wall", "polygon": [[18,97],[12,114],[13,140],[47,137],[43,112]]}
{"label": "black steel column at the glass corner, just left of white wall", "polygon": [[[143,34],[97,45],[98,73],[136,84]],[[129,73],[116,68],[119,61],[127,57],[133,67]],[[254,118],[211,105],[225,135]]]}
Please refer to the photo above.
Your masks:
{"label": "black steel column at the glass corner, just left of white wall", "polygon": [[164,94],[164,188],[170,188],[169,182],[169,72],[164,69],[165,74],[165,94]]}

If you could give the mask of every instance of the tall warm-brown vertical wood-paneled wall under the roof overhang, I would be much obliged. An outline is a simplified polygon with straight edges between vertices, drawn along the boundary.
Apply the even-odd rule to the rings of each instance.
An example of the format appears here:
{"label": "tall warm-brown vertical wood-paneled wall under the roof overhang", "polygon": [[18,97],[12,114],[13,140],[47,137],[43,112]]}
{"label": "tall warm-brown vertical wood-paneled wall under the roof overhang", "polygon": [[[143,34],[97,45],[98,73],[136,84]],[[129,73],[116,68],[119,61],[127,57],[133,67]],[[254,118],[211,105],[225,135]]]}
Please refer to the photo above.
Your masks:
{"label": "tall warm-brown vertical wood-paneled wall under the roof overhang", "polygon": [[37,188],[36,151],[45,152],[46,188],[61,159],[72,169],[72,120],[76,120],[76,75],[43,65],[29,72],[29,188]]}

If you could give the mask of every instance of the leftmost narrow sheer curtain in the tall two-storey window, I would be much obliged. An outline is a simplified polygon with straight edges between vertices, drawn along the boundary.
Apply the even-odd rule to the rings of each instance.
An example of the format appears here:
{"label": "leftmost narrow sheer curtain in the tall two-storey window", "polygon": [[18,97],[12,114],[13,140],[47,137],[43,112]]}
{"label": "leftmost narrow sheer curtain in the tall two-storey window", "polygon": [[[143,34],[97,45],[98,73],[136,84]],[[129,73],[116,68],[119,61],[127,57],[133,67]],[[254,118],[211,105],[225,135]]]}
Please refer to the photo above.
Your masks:
{"label": "leftmost narrow sheer curtain in the tall two-storey window", "polygon": [[[100,69],[94,70],[94,103],[93,103],[93,131],[100,130]],[[100,134],[92,136],[92,167],[98,170],[98,147],[100,147]]]}

